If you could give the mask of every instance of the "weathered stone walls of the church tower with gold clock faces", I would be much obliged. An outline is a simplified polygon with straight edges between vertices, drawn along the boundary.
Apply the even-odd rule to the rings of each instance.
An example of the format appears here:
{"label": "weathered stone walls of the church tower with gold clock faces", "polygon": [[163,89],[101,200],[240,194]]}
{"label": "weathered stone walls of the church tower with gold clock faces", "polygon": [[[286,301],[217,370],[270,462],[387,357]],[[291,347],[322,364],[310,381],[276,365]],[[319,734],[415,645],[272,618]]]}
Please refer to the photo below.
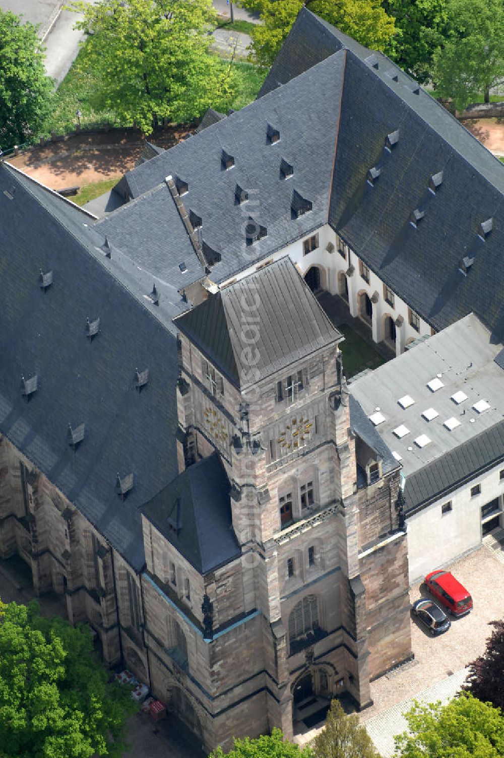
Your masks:
{"label": "weathered stone walls of the church tower with gold clock faces", "polygon": [[[304,344],[295,318],[299,349],[276,356],[274,370],[264,371],[273,304],[261,296],[264,312],[254,321],[251,304],[261,287],[248,278],[240,299],[233,287],[230,302],[226,293],[213,296],[226,317],[217,337],[228,343],[224,352],[215,334],[180,319],[177,390],[180,470],[218,456],[238,552],[201,574],[177,553],[173,529],[156,528],[147,515],[143,521],[152,681],[206,747],[230,747],[233,735],[274,726],[292,737],[307,708],[321,709],[343,693],[364,708],[370,680],[411,655],[399,472],[384,470],[383,453],[362,432],[367,422],[372,434],[367,418],[355,429],[343,337],[330,327],[321,346]],[[311,319],[325,320],[298,279],[302,313],[309,305]],[[240,334],[236,302],[243,307]],[[212,307],[199,306],[207,315]],[[214,330],[219,320],[214,316]],[[247,335],[255,335],[253,346]],[[237,337],[245,340],[239,355]],[[231,368],[229,351],[236,355]],[[239,379],[230,381],[237,363]]]}

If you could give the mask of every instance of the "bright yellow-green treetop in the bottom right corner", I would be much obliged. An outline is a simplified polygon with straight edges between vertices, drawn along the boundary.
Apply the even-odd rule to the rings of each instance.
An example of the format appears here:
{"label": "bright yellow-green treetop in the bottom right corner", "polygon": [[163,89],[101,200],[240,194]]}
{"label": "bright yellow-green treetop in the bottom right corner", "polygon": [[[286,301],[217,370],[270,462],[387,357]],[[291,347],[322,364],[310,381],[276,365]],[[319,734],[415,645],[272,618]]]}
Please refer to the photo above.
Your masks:
{"label": "bright yellow-green treetop in the bottom right corner", "polygon": [[394,738],[396,758],[502,758],[504,719],[499,709],[470,694],[448,705],[430,703],[405,713],[409,732]]}

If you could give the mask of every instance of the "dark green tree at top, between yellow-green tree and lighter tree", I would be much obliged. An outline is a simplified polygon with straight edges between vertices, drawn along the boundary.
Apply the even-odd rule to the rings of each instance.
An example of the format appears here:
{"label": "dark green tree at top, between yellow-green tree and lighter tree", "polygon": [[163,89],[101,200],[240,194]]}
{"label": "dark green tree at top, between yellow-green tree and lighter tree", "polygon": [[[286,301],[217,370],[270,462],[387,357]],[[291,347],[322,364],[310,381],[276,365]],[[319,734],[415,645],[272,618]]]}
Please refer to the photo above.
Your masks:
{"label": "dark green tree at top, between yellow-green tree and lighter tree", "polygon": [[430,80],[434,50],[449,35],[448,0],[383,0],[396,22],[387,53],[421,84]]}

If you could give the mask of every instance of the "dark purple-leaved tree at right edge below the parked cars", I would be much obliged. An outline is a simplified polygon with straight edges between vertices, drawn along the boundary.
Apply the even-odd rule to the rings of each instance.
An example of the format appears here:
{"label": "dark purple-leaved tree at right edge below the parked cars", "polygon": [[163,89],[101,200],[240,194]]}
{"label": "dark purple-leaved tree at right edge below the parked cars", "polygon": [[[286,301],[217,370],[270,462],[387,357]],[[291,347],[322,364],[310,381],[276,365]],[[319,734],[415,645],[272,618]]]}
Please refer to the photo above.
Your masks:
{"label": "dark purple-leaved tree at right edge below the parked cars", "polygon": [[462,689],[504,713],[504,621],[490,624],[494,630],[487,639],[486,650],[470,664]]}

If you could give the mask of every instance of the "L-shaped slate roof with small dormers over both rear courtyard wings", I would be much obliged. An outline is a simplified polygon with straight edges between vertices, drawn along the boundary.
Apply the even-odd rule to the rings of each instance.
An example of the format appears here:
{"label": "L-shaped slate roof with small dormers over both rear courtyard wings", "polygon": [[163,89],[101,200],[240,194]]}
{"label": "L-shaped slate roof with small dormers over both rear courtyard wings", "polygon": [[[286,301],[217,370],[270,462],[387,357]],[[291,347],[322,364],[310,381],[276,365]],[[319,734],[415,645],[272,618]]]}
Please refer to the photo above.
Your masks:
{"label": "L-shaped slate roof with small dormers over both rear courtyard wings", "polygon": [[[268,124],[280,131],[274,145]],[[223,150],[234,158],[228,171]],[[279,178],[281,160],[293,165],[292,178]],[[373,168],[380,173],[371,186]],[[475,312],[504,337],[502,164],[386,56],[306,8],[254,103],[130,171],[121,186],[138,197],[167,174],[189,183],[185,202],[222,258],[211,270],[216,283],[329,223],[437,330]],[[235,201],[236,185],[256,190],[255,207]],[[293,190],[313,204],[298,219]],[[415,211],[424,213],[416,228]],[[248,215],[267,231],[249,249]],[[478,233],[490,218],[483,242]],[[158,224],[165,240],[179,239],[169,215]]]}

